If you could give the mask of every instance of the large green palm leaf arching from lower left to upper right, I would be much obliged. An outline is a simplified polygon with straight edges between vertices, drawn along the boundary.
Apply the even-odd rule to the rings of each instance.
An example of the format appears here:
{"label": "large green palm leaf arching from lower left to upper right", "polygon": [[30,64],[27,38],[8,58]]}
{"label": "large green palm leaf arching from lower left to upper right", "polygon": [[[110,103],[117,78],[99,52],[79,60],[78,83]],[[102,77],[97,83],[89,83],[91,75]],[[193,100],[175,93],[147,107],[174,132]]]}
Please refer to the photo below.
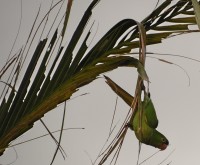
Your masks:
{"label": "large green palm leaf arching from lower left to upper right", "polygon": [[[101,73],[118,67],[135,67],[140,76],[148,81],[148,76],[140,61],[127,56],[132,49],[141,47],[140,36],[141,33],[145,33],[144,30],[156,31],[142,35],[146,35],[146,44],[151,45],[160,43],[163,38],[173,33],[188,32],[188,25],[196,24],[190,1],[180,0],[169,7],[171,0],[167,0],[141,24],[132,19],[120,21],[86,53],[88,51],[86,42],[91,35],[88,31],[78,52],[74,55],[74,49],[83,37],[82,34],[91,17],[92,9],[98,2],[99,0],[91,2],[66,48],[56,47],[59,42],[57,29],[51,39],[47,37],[38,43],[21,81],[18,80],[21,60],[16,60],[18,63],[13,75],[16,81],[12,82],[11,89],[7,86],[9,92],[6,92],[0,105],[0,154],[3,154],[11,141],[29,130],[35,121],[59,103],[70,99],[74,92],[95,80]],[[67,30],[69,13],[70,8],[66,11],[64,29],[60,33],[61,38]],[[186,17],[188,15],[190,17],[175,18],[183,13]],[[174,23],[162,25],[165,22]],[[19,57],[22,58],[23,53],[21,51]],[[52,63],[49,63],[50,59]],[[20,86],[15,89],[17,82]]]}

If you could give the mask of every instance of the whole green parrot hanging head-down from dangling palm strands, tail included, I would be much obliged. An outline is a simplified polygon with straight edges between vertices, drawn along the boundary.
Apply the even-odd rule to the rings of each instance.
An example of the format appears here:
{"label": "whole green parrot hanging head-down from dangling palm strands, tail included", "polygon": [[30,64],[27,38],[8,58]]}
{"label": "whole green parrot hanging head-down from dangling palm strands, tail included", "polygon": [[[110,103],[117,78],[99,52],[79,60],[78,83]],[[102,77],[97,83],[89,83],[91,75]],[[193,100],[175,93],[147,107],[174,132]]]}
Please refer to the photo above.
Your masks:
{"label": "whole green parrot hanging head-down from dangling palm strands, tail included", "polygon": [[[105,76],[107,84],[120,96],[129,106],[132,105],[134,97],[123,90],[110,78]],[[141,115],[140,115],[141,114]],[[141,117],[140,117],[141,116]],[[134,118],[130,120],[129,127],[135,132],[137,139],[144,144],[165,150],[169,144],[167,138],[156,130],[158,119],[154,105],[147,93],[144,93],[144,101],[140,109],[136,111]]]}

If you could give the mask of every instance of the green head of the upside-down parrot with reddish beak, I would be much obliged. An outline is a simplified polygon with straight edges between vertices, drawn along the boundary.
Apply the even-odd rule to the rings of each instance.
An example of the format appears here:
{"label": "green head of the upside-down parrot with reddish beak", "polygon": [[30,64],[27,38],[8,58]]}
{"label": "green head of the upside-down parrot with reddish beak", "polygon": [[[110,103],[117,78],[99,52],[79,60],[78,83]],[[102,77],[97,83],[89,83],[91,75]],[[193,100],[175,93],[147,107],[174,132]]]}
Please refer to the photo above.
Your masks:
{"label": "green head of the upside-down parrot with reddish beak", "polygon": [[169,141],[163,134],[161,134],[157,130],[154,130],[153,135],[150,138],[149,145],[159,148],[161,150],[165,150],[169,145]]}

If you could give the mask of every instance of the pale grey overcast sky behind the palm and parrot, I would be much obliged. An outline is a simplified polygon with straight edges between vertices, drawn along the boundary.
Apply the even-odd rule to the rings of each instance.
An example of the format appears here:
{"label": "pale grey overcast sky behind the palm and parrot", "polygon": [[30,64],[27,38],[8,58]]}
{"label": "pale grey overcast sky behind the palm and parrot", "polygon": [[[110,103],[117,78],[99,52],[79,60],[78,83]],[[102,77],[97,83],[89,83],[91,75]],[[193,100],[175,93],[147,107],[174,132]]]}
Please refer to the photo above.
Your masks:
{"label": "pale grey overcast sky behind the palm and parrot", "polygon": [[[90,1],[74,0],[68,29],[69,38]],[[94,42],[122,19],[132,18],[141,21],[151,13],[156,2],[156,0],[101,0],[93,10],[93,16],[90,20],[91,22],[95,20],[94,31],[97,32]],[[19,50],[20,46],[25,43],[40,3],[42,4],[42,16],[47,11],[50,0],[23,1],[22,28],[13,53]],[[20,20],[20,6],[20,0],[0,1],[0,66],[3,66],[17,33]],[[149,46],[147,50],[200,59],[199,43],[200,34],[194,33],[164,40],[162,44]],[[171,164],[174,165],[199,164],[200,63],[178,57],[158,57],[183,67],[189,74],[190,86],[188,85],[189,79],[187,75],[179,67],[147,58],[146,70],[151,81],[151,97],[159,119],[158,130],[166,135],[170,145],[165,151],[159,152],[143,164],[157,165],[174,149],[175,151],[163,163],[164,165],[171,161]],[[106,75],[130,93],[134,93],[137,78],[135,69],[120,68]],[[108,136],[116,95],[106,85],[103,78],[81,88],[75,95],[78,96],[85,92],[89,92],[89,94],[67,102],[65,123],[65,128],[84,127],[85,129],[64,132],[62,147],[67,153],[67,158],[63,160],[61,154],[58,153],[55,165],[91,164],[90,159],[93,161],[96,159]],[[50,130],[54,131],[60,128],[62,109],[62,106],[59,106],[45,115],[44,121]],[[119,99],[117,114],[114,120],[115,124],[118,123],[117,128],[120,127],[127,112],[128,106]],[[46,133],[46,130],[37,122],[32,130],[17,141],[20,142],[37,137],[44,133]],[[55,147],[50,137],[16,146],[17,160],[14,164],[49,164]],[[151,146],[142,145],[140,160],[144,160],[156,151],[157,149]],[[117,164],[136,164],[137,154],[138,141],[135,138],[134,132],[128,131]],[[10,148],[0,158],[0,164],[8,164],[15,159],[16,153],[14,149]]]}

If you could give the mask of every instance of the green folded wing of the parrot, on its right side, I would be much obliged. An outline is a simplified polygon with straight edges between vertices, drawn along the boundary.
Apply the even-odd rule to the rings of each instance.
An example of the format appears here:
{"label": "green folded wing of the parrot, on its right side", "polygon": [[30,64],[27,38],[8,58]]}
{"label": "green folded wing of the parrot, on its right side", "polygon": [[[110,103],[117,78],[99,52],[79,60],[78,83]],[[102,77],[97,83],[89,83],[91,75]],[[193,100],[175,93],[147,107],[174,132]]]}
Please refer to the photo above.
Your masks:
{"label": "green folded wing of the parrot, on its right side", "polygon": [[157,128],[158,126],[158,118],[156,115],[156,111],[153,105],[152,100],[149,98],[149,96],[145,93],[144,94],[144,113],[146,117],[146,122],[151,128]]}

